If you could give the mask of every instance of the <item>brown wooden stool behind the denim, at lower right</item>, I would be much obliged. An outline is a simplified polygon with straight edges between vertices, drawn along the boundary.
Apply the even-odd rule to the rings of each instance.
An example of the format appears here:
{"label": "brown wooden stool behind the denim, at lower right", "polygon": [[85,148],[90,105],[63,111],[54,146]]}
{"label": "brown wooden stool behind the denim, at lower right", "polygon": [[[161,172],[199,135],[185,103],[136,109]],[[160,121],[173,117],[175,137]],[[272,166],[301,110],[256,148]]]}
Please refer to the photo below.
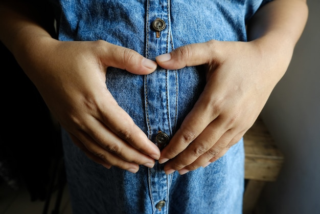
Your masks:
{"label": "brown wooden stool behind the denim, at lower right", "polygon": [[243,196],[243,214],[252,214],[266,182],[276,181],[283,154],[259,117],[243,136],[245,151],[246,187]]}

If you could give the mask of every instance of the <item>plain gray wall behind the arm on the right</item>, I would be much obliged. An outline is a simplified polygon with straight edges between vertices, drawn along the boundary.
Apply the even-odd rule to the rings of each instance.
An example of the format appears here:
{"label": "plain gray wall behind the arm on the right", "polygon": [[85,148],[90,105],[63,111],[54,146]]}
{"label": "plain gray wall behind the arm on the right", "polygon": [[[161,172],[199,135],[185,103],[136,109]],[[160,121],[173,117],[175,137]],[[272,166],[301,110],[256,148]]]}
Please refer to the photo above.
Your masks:
{"label": "plain gray wall behind the arm on the right", "polygon": [[270,214],[320,213],[320,1],[307,4],[305,31],[261,114],[285,155],[260,200]]}

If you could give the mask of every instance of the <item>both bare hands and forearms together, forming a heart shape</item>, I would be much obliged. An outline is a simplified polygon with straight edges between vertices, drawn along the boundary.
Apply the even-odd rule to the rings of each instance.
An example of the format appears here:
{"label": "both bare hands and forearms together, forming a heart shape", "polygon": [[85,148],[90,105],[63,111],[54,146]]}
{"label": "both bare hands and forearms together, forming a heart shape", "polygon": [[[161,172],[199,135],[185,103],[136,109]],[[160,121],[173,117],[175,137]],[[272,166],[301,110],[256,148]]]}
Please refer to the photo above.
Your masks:
{"label": "both bare hands and forearms together, forming a heart shape", "polygon": [[58,41],[38,19],[12,5],[0,8],[1,41],[74,143],[106,168],[132,173],[159,159],[167,174],[185,174],[220,158],[260,114],[307,19],[305,1],[275,0],[248,25],[249,42],[212,40],[158,56],[166,69],[207,67],[204,91],[160,153],[105,87],[106,68],[142,75],[153,72],[155,62],[106,41]]}

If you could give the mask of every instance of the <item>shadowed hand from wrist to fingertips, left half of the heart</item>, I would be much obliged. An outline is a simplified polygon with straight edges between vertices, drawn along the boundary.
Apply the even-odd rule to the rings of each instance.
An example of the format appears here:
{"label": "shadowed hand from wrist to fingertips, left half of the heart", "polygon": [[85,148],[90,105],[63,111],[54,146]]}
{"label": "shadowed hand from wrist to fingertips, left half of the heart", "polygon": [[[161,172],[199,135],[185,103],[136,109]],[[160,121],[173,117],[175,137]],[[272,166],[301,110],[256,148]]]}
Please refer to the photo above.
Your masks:
{"label": "shadowed hand from wrist to fingertips, left half of the heart", "polygon": [[[153,167],[160,151],[106,88],[106,70],[115,67],[149,74],[156,63],[106,41],[42,38],[22,68],[73,142],[106,168],[136,173]],[[20,63],[21,64],[21,63]]]}

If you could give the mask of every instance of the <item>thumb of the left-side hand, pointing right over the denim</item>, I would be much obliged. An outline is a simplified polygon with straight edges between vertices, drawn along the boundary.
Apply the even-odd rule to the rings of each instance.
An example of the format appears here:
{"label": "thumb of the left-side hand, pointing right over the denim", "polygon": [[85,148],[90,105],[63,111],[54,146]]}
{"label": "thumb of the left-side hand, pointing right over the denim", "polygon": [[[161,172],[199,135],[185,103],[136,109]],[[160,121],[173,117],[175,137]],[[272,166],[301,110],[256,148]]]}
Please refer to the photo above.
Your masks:
{"label": "thumb of the left-side hand, pointing right over the denim", "polygon": [[143,57],[134,50],[108,42],[100,58],[105,67],[119,68],[133,74],[150,74],[157,68],[155,61]]}

